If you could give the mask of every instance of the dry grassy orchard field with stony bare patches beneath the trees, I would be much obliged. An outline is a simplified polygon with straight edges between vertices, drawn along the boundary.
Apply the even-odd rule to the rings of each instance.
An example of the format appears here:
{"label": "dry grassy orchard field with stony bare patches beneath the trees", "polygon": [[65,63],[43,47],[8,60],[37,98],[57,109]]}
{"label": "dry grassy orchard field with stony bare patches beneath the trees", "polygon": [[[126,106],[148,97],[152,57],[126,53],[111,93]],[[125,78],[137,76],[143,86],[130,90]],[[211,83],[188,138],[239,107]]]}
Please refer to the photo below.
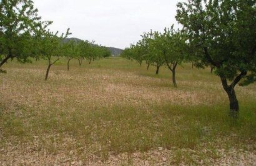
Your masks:
{"label": "dry grassy orchard field with stony bare patches beneath the trees", "polygon": [[210,69],[146,70],[109,58],[79,67],[8,62],[0,75],[0,165],[255,165],[256,84],[240,117]]}

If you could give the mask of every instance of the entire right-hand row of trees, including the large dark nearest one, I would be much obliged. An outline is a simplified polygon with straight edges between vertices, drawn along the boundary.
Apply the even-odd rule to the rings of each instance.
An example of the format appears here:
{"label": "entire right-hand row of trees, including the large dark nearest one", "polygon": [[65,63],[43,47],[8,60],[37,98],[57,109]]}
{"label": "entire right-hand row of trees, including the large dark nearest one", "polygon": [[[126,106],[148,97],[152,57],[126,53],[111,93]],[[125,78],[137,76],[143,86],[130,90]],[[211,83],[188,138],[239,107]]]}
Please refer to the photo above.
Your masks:
{"label": "entire right-hand row of trees, including the large dark nearest one", "polygon": [[142,35],[123,56],[140,64],[172,71],[181,62],[197,67],[210,66],[220,77],[229,97],[230,115],[237,117],[239,102],[235,86],[256,81],[256,4],[254,0],[189,0],[177,4],[177,21],[182,31],[173,27],[164,33]]}

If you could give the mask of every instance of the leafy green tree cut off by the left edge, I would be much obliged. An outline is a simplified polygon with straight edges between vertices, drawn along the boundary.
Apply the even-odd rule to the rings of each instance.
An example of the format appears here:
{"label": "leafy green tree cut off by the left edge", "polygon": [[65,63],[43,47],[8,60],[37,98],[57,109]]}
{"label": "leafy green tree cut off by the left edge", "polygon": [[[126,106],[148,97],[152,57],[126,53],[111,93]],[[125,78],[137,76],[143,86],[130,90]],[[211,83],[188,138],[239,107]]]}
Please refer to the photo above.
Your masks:
{"label": "leafy green tree cut off by the left edge", "polygon": [[28,57],[36,56],[37,39],[50,23],[41,22],[33,1],[0,1],[0,68],[9,59],[27,62]]}

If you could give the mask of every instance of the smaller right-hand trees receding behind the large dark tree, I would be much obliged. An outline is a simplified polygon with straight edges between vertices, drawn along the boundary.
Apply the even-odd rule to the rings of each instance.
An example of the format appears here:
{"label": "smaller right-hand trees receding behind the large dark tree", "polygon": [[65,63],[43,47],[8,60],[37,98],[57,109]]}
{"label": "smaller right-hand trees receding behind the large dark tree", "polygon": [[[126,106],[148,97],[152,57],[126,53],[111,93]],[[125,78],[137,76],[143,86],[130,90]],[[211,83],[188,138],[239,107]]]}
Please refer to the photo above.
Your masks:
{"label": "smaller right-hand trees receding behind the large dark tree", "polygon": [[173,83],[176,87],[175,69],[182,61],[189,59],[187,50],[187,33],[185,31],[175,30],[174,26],[165,28],[163,33],[148,32],[142,35],[142,39],[137,44],[130,45],[122,52],[122,56],[130,60],[135,60],[142,64],[145,61],[147,69],[149,66],[156,66],[156,74],[159,68],[166,65],[172,72]]}

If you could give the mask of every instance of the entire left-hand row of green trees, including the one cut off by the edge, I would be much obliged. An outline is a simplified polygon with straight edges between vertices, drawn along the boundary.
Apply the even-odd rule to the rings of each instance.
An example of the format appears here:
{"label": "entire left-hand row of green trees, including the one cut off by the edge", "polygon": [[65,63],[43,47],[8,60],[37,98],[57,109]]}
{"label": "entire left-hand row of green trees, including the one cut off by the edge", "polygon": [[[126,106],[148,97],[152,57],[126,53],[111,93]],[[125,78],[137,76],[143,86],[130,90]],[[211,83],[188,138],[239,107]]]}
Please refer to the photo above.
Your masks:
{"label": "entire left-hand row of green trees, including the one cut off by the edge", "polygon": [[67,58],[67,69],[72,59],[78,59],[81,66],[84,59],[89,63],[102,57],[111,56],[111,52],[102,46],[89,41],[72,41],[71,34],[51,32],[48,26],[51,21],[42,21],[31,0],[0,1],[0,72],[9,59],[25,63],[34,59],[45,59],[48,62],[47,80],[51,66],[60,57]]}

